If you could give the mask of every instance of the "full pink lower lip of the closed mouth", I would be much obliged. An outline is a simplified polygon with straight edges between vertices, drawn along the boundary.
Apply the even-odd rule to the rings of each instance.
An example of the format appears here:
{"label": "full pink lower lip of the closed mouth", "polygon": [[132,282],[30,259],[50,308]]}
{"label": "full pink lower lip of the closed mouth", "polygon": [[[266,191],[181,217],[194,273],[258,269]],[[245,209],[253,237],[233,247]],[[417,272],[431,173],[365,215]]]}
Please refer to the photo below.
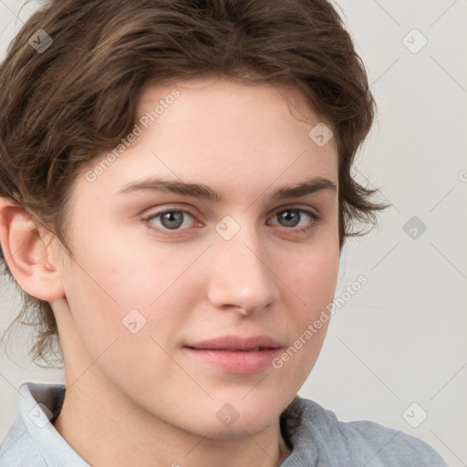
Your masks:
{"label": "full pink lower lip of the closed mouth", "polygon": [[265,348],[262,350],[216,350],[206,348],[184,348],[192,357],[229,373],[247,375],[257,373],[271,366],[280,348]]}

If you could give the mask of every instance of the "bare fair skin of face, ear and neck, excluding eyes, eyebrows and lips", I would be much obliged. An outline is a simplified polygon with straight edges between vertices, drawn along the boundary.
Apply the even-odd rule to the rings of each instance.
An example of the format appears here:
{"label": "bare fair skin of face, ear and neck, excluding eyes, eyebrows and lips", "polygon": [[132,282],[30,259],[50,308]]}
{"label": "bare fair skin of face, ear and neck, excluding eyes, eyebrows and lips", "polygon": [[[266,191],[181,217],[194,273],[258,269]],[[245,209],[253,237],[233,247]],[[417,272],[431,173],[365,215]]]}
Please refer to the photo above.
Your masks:
{"label": "bare fair skin of face, ear and neck, excluding eyes, eyebrows and lips", "polygon": [[[0,239],[16,280],[54,309],[67,385],[55,427],[83,459],[98,467],[278,465],[290,454],[279,415],[315,365],[327,324],[282,368],[253,374],[215,368],[183,345],[232,334],[288,348],[332,302],[337,192],[271,194],[309,177],[337,185],[336,141],[318,147],[308,137],[322,120],[296,89],[223,78],[146,88],[138,117],[173,88],[180,97],[94,182],[86,173],[102,158],[78,173],[67,218],[73,260],[5,200]],[[118,194],[149,176],[204,183],[223,201]],[[179,230],[161,217],[141,221],[166,208],[188,211]],[[289,226],[276,215],[286,208],[321,220],[301,214]],[[240,227],[228,241],[214,229],[226,215]],[[135,334],[122,325],[131,309],[146,319]],[[230,426],[216,417],[226,403],[239,415]]]}

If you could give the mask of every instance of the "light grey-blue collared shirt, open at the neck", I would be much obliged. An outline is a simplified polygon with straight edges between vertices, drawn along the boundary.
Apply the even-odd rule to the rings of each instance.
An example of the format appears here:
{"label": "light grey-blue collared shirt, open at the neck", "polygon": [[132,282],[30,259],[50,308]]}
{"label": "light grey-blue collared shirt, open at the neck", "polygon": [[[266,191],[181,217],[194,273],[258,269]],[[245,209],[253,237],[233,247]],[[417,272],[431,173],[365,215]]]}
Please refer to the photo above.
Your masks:
{"label": "light grey-blue collared shirt, open at the neck", "polygon": [[[24,383],[18,418],[0,445],[0,467],[90,467],[55,429],[65,385]],[[372,421],[337,420],[296,396],[281,414],[292,453],[280,467],[447,467],[426,442]]]}

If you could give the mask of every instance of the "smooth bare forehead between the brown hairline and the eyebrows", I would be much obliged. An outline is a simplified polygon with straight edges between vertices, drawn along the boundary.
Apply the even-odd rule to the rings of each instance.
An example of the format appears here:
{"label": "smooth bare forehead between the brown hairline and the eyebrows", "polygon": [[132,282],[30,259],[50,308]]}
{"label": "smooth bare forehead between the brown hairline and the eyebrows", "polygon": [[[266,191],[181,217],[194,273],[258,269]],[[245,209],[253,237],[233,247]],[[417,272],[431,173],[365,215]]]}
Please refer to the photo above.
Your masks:
{"label": "smooth bare forehead between the brown hairline and the eyebrows", "polygon": [[296,88],[223,78],[152,85],[141,94],[135,121],[137,137],[91,189],[117,193],[152,176],[203,183],[225,199],[242,192],[251,201],[258,190],[310,177],[337,185],[336,141],[319,145],[310,136],[323,122]]}

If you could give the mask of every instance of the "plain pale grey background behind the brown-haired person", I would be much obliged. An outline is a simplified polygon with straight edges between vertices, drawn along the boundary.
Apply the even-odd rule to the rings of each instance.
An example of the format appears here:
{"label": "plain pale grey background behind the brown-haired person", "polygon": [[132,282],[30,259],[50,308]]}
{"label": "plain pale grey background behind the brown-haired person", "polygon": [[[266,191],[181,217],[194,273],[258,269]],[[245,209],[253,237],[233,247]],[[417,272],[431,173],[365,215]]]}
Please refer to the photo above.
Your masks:
{"label": "plain pale grey background behind the brown-haired person", "polygon": [[[16,17],[22,4],[0,0],[1,57],[34,9]],[[341,420],[420,437],[451,467],[467,465],[467,1],[335,5],[379,105],[355,176],[393,206],[346,246],[336,297],[358,275],[368,284],[337,308],[299,394]],[[18,307],[0,277],[0,332]],[[64,381],[61,370],[30,362],[28,332],[16,332],[15,361],[0,353],[0,439],[22,382]]]}

